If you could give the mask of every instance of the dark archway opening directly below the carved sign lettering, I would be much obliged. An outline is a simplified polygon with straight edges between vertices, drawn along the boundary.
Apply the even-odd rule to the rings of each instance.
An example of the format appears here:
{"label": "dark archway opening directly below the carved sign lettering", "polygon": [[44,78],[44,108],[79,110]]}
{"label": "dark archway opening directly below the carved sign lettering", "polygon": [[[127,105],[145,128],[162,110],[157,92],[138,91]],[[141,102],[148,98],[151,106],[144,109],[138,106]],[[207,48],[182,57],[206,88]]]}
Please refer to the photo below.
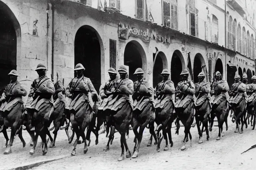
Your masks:
{"label": "dark archway opening directly below the carved sign lettering", "polygon": [[134,75],[134,72],[137,68],[142,68],[142,59],[139,47],[133,42],[128,42],[125,46],[124,65],[129,66],[129,79],[133,82],[137,81],[137,77]]}

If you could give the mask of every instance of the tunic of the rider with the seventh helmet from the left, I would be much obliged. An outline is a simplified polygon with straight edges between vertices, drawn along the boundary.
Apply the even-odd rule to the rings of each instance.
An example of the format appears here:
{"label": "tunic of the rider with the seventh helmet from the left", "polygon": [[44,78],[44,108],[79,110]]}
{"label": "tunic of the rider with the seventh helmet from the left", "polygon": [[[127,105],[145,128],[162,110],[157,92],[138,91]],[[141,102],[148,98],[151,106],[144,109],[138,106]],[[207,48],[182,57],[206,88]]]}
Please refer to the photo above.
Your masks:
{"label": "tunic of the rider with the seventh helmet from the left", "polygon": [[160,82],[155,88],[155,108],[163,109],[168,106],[170,102],[174,104],[174,93],[175,87],[171,80],[168,79]]}

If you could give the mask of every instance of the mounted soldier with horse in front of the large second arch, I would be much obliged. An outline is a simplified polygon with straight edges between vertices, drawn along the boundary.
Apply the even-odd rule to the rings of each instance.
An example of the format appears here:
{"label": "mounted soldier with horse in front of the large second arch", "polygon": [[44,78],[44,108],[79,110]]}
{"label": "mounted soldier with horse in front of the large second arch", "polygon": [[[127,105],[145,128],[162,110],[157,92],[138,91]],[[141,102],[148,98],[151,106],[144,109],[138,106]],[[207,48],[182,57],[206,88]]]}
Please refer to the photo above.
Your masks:
{"label": "mounted soldier with horse in front of the large second arch", "polygon": [[69,112],[71,113],[70,122],[73,127],[72,136],[74,136],[74,132],[77,136],[71,155],[76,155],[76,146],[80,136],[84,142],[84,153],[88,151],[84,131],[90,124],[93,116],[92,104],[89,101],[89,93],[91,93],[93,102],[98,101],[98,94],[91,80],[83,75],[84,70],[85,68],[81,63],[78,63],[75,66],[74,71],[76,71],[76,77],[70,81],[65,92],[66,96],[71,99]]}

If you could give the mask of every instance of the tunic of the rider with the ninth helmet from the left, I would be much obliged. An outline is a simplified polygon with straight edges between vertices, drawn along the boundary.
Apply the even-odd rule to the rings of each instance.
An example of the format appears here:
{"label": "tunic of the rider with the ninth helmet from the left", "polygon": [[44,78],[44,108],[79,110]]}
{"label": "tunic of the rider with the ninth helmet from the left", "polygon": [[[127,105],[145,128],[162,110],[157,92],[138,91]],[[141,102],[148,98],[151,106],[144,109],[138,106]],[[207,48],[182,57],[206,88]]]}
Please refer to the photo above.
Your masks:
{"label": "tunic of the rider with the ninth helmet from the left", "polygon": [[[196,106],[201,106],[205,100],[210,100],[211,86],[209,82],[200,82],[195,84],[196,87]],[[201,92],[200,92],[201,91]]]}

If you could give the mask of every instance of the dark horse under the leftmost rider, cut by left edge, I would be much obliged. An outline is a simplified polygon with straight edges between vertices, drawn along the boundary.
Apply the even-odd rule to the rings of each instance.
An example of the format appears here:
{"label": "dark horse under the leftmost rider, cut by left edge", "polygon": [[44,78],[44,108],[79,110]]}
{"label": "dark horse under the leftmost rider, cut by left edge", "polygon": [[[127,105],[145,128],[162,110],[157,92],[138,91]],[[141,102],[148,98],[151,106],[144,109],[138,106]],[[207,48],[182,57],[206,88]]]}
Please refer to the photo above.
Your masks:
{"label": "dark horse under the leftmost rider, cut by left edge", "polygon": [[[2,132],[6,139],[5,146],[7,147],[6,150],[4,151],[4,154],[9,154],[12,152],[11,146],[13,144],[14,136],[16,134],[18,134],[23,144],[23,147],[25,147],[26,142],[22,137],[23,119],[24,119],[24,107],[22,103],[18,103],[16,106],[14,106],[9,113],[0,112],[0,125],[1,124],[4,125]],[[8,127],[11,127],[10,141],[6,131]],[[8,144],[8,141],[9,141],[9,144]]]}

